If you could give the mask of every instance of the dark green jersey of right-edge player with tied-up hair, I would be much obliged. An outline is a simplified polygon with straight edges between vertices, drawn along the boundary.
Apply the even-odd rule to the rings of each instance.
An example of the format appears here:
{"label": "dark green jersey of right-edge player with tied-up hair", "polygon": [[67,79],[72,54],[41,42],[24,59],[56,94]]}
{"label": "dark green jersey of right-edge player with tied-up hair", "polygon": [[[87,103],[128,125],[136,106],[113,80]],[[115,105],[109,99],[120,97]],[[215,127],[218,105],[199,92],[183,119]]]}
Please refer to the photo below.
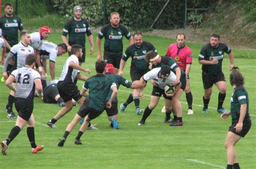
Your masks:
{"label": "dark green jersey of right-edge player with tied-up hair", "polygon": [[240,105],[246,104],[246,114],[243,123],[251,121],[249,114],[249,97],[244,86],[238,86],[234,89],[231,96],[231,116],[232,124],[237,123],[240,117]]}

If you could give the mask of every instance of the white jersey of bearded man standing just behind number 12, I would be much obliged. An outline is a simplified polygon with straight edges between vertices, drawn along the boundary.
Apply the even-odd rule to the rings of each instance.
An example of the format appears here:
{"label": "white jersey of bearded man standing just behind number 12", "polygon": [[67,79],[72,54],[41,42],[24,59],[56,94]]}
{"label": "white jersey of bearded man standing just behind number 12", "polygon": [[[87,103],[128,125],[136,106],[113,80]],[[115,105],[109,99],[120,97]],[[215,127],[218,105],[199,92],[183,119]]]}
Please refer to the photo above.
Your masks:
{"label": "white jersey of bearded man standing just behind number 12", "polygon": [[25,67],[26,56],[34,53],[34,49],[31,46],[24,46],[21,42],[12,46],[11,52],[14,53],[14,67],[19,69]]}

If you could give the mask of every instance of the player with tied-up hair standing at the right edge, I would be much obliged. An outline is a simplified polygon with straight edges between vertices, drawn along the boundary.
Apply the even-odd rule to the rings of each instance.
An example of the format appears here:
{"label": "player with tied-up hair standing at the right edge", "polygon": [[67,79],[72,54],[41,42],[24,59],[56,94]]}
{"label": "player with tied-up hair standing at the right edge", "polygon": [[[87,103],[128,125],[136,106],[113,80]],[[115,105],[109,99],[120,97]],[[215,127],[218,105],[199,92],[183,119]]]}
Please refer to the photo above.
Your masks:
{"label": "player with tied-up hair standing at the right edge", "polygon": [[230,115],[232,116],[232,125],[227,132],[225,140],[228,169],[240,168],[234,146],[242,137],[245,137],[252,125],[249,114],[249,97],[244,87],[244,77],[236,70],[238,67],[233,66],[232,69],[230,84],[234,90],[231,96],[231,110],[221,114],[222,119],[226,119]]}

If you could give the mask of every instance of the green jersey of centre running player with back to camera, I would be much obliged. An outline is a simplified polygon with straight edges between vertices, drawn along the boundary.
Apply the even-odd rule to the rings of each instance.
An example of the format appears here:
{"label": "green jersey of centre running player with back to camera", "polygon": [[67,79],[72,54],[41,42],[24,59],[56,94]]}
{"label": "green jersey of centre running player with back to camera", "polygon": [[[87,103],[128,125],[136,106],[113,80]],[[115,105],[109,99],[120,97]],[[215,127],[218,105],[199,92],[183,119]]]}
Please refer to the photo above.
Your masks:
{"label": "green jersey of centre running player with back to camera", "polygon": [[89,107],[103,111],[107,94],[109,94],[112,86],[116,86],[114,81],[102,74],[90,77],[83,85],[83,89],[89,90],[89,95],[86,97],[90,100]]}

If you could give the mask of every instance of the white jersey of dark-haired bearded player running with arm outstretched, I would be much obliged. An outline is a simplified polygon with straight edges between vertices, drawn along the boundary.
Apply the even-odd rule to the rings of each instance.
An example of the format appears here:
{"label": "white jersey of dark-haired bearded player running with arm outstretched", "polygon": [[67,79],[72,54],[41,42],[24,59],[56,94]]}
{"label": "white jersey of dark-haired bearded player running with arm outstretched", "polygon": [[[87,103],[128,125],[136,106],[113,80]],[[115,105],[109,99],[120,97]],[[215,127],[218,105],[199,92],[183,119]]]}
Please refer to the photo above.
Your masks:
{"label": "white jersey of dark-haired bearded player running with arm outstretched", "polygon": [[66,82],[74,82],[76,76],[78,73],[80,73],[79,70],[73,69],[69,66],[69,63],[73,62],[77,65],[79,65],[78,58],[76,55],[71,55],[65,62],[62,70],[62,74],[60,75],[59,81],[66,81]]}

